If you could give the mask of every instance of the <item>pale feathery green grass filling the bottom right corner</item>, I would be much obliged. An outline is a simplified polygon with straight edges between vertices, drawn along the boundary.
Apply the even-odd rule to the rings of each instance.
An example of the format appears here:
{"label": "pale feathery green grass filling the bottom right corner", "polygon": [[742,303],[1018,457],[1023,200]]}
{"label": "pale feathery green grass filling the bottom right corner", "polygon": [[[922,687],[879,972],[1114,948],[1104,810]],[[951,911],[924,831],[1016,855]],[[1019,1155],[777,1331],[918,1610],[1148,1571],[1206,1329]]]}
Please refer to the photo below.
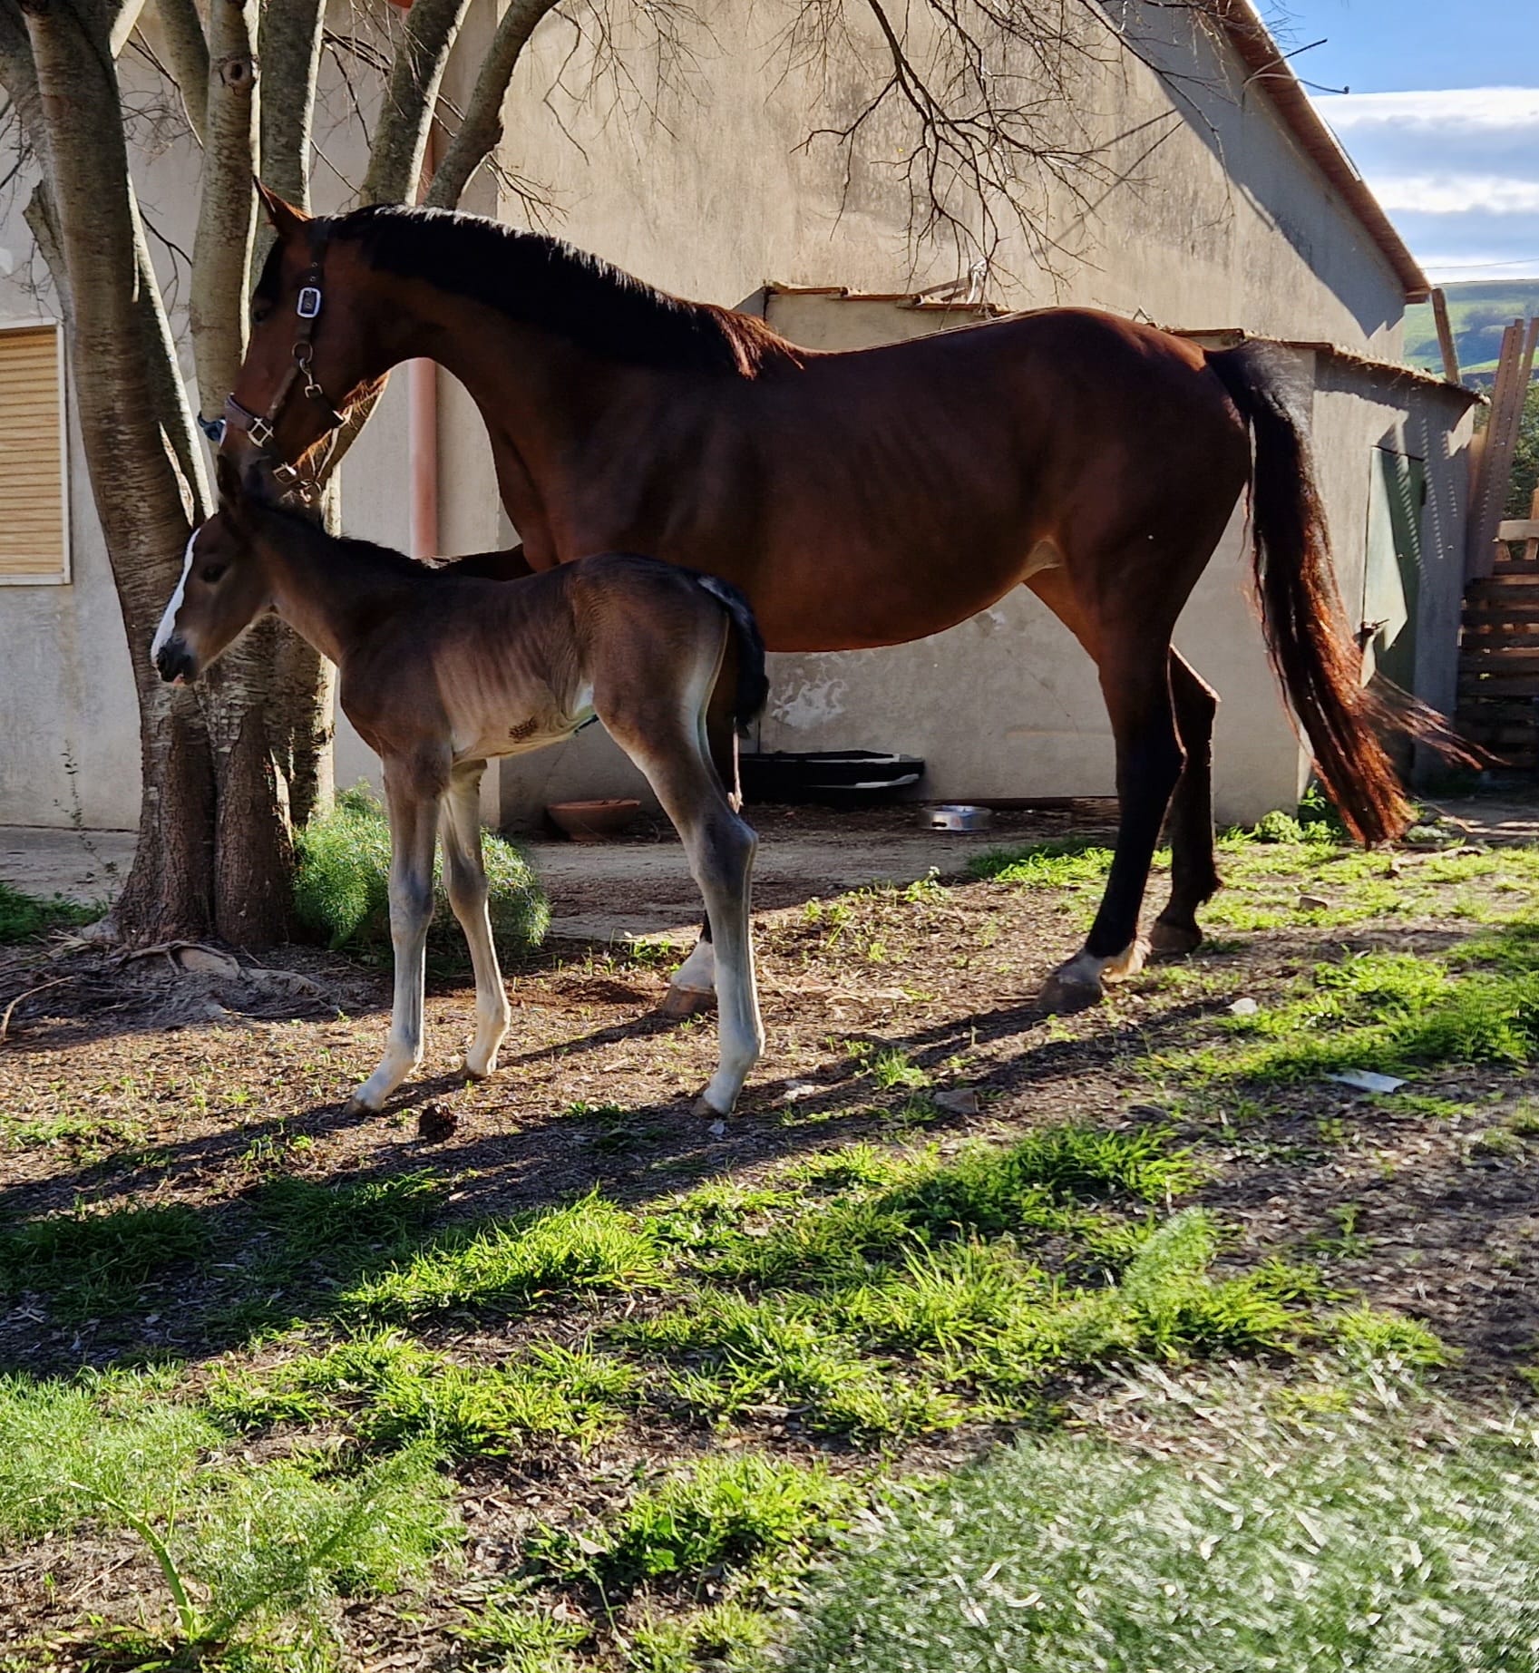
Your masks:
{"label": "pale feathery green grass filling the bottom right corner", "polygon": [[[1209,1390],[1209,1407],[1225,1402]],[[895,1496],[810,1581],[783,1666],[1532,1666],[1527,1427],[1470,1434],[1460,1419],[1422,1437],[1393,1407],[1218,1425],[1189,1464],[1054,1435]]]}

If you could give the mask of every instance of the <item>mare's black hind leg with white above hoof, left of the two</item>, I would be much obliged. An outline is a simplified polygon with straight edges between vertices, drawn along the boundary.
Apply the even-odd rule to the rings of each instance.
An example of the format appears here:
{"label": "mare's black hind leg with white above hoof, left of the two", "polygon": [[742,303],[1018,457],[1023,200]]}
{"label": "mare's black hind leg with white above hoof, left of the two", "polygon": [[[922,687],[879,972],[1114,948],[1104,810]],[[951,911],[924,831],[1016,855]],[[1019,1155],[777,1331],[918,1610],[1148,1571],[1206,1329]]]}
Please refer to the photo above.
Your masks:
{"label": "mare's black hind leg with white above hoof, left of the two", "polygon": [[1183,751],[1171,703],[1169,642],[1138,632],[1107,636],[1101,646],[1101,689],[1117,748],[1117,847],[1106,893],[1084,947],[1047,979],[1042,1004],[1077,1010],[1101,999],[1102,982],[1134,975],[1148,944],[1138,915],[1149,883],[1149,862]]}

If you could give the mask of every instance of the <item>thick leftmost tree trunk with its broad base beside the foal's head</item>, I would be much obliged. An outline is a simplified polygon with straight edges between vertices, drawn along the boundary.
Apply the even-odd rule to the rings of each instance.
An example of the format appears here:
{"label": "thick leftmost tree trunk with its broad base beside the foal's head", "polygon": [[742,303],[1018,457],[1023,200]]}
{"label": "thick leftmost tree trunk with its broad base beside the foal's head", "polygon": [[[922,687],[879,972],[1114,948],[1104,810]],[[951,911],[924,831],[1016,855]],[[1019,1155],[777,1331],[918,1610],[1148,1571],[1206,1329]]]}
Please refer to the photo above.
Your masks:
{"label": "thick leftmost tree trunk with its broad base beside the foal's head", "polygon": [[85,462],[139,694],[144,803],[114,922],[127,940],[211,932],[273,940],[288,925],[288,850],[261,760],[259,709],[254,729],[243,701],[251,669],[236,652],[194,694],[161,684],[147,657],[189,517],[202,507],[171,333],[159,294],[135,283],[147,254],[109,23],[67,0],[33,0],[27,27],[50,174],[37,219],[60,268]]}

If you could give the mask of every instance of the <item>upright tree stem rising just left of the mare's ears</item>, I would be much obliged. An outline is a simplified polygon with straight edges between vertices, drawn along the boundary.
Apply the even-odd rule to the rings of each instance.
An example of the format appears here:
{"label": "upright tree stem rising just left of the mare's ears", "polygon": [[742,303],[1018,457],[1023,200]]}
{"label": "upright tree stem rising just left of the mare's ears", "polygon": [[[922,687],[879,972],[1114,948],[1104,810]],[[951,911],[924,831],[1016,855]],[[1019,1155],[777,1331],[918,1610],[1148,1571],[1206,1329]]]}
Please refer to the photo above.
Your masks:
{"label": "upright tree stem rising just left of the mare's ears", "polygon": [[217,412],[246,353],[256,231],[256,0],[209,0],[209,109],[187,325],[197,398]]}

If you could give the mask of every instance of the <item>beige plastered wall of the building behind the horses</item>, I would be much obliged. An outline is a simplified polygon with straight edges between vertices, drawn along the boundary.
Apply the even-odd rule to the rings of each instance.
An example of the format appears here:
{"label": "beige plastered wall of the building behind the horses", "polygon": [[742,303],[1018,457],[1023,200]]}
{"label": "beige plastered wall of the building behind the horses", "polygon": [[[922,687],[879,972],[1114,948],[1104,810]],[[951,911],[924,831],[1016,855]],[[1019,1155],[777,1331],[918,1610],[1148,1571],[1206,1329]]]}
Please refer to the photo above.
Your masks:
{"label": "beige plastered wall of the building behind the horses", "polygon": [[[955,248],[910,238],[907,187],[883,162],[903,142],[900,125],[882,117],[870,129],[848,159],[848,184],[846,159],[833,142],[805,144],[813,129],[850,120],[877,85],[880,59],[875,40],[858,35],[825,64],[808,54],[798,59],[785,43],[798,13],[795,0],[719,0],[691,32],[689,54],[661,82],[641,42],[651,13],[636,8],[616,18],[622,77],[596,69],[570,25],[552,17],[515,77],[505,169],[549,199],[554,231],[703,299],[759,310],[768,281],[892,293],[957,279]],[[493,0],[473,0],[450,65],[450,99],[465,97],[475,52],[493,22]],[[1076,132],[1106,146],[1107,177],[1089,206],[1067,191],[1042,189],[1039,224],[1051,236],[1051,251],[1019,234],[1005,238],[987,273],[989,299],[1005,306],[1089,303],[1168,325],[1243,325],[1266,335],[1393,351],[1402,293],[1387,258],[1263,94],[1246,89],[1233,50],[1189,35],[1186,22],[1179,8],[1138,8],[1141,50],[1188,77],[1196,74],[1198,80],[1183,82],[1191,105],[1173,100],[1127,54],[1084,62],[1072,100]],[[1111,43],[1111,35],[1101,37],[1102,52]],[[122,70],[129,79],[149,74],[127,59]],[[356,179],[361,132],[335,92],[320,136],[341,174]],[[1117,134],[1129,137],[1117,142]],[[146,211],[161,233],[191,248],[191,142],[139,137],[135,174]],[[20,217],[28,186],[18,182],[0,206],[0,321],[50,311],[45,273]],[[318,171],[316,189],[323,207],[343,201],[343,186],[326,169]],[[485,172],[467,207],[530,221],[505,181]],[[922,318],[905,316],[902,328],[917,330]],[[785,323],[795,326],[791,335],[810,330],[805,321]],[[176,325],[181,330],[181,318]],[[401,383],[398,373],[343,480],[346,525],[396,545],[408,534]],[[500,515],[478,415],[442,373],[438,390],[440,544],[445,550],[505,544],[514,530]],[[137,818],[139,800],[130,647],[79,442],[70,515],[72,581],[62,587],[0,587],[0,713],[7,718],[0,821],[127,826]],[[1066,654],[1054,622],[1017,619],[1012,612],[1025,606],[1015,601],[1000,609],[1004,624],[990,619],[955,629],[964,636],[955,641],[959,649],[969,654],[974,641],[997,641],[990,656],[1000,678],[1007,674],[1019,686],[1007,688],[1015,691],[1012,728],[1035,738],[1029,748],[1025,734],[1000,741],[999,778],[1032,776],[1027,768],[1037,760],[1084,770],[1097,748],[1104,751],[1104,739],[1096,743],[1086,718],[1092,693],[1082,659]],[[134,647],[134,654],[142,649]],[[937,652],[927,644],[895,654],[917,659],[913,666],[922,669]],[[875,666],[888,664],[873,657]],[[882,678],[903,684],[897,673]],[[1238,713],[1233,696],[1230,701]],[[902,709],[892,713],[900,716]],[[940,741],[942,753],[960,750],[965,731],[959,723],[955,741],[950,734]],[[514,815],[557,795],[602,790],[612,778],[606,748],[584,734],[564,751],[505,766],[497,805]],[[1273,744],[1258,736],[1248,748],[1266,753]],[[957,756],[959,773],[964,760]],[[940,755],[935,765],[942,766]],[[371,756],[343,726],[338,781],[371,771]],[[1010,793],[1052,791],[1025,785]]]}

